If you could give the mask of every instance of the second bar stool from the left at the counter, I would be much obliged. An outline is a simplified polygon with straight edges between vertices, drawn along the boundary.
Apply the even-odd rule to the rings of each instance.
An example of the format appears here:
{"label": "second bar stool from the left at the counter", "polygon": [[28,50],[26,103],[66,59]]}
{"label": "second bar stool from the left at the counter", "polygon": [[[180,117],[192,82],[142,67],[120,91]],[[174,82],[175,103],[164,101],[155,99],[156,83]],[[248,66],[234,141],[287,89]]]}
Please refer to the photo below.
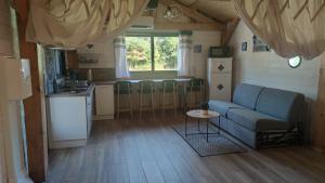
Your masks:
{"label": "second bar stool from the left at the counter", "polygon": [[[144,109],[151,109],[153,112],[153,116],[155,117],[155,104],[154,104],[155,82],[140,81],[138,92],[139,92],[140,118],[142,116],[142,110]],[[147,107],[143,105],[145,96],[150,96],[150,104]]]}

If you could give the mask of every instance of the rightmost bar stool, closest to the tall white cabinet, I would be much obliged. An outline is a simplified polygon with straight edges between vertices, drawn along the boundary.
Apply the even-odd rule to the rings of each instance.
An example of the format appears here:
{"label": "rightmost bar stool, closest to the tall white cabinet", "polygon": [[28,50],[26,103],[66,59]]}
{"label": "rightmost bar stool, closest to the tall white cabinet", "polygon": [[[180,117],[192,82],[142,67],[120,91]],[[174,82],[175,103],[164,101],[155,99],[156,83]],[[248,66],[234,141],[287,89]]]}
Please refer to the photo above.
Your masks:
{"label": "rightmost bar stool, closest to the tall white cabinet", "polygon": [[[187,107],[192,109],[192,107],[197,106],[197,102],[202,102],[203,100],[203,86],[204,80],[200,78],[192,78],[190,80],[190,86],[186,87],[186,96],[190,95],[190,102],[187,103]],[[197,99],[197,94],[199,95]],[[187,101],[187,99],[186,99]]]}

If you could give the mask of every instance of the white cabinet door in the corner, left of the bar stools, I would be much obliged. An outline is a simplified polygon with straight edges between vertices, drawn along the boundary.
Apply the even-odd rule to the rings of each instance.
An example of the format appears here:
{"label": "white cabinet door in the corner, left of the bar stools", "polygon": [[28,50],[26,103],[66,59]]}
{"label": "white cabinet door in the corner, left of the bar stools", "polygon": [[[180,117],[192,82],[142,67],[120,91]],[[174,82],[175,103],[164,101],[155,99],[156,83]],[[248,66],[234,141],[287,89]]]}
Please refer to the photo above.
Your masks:
{"label": "white cabinet door in the corner, left of the bar stools", "polygon": [[96,116],[114,117],[114,84],[95,87]]}

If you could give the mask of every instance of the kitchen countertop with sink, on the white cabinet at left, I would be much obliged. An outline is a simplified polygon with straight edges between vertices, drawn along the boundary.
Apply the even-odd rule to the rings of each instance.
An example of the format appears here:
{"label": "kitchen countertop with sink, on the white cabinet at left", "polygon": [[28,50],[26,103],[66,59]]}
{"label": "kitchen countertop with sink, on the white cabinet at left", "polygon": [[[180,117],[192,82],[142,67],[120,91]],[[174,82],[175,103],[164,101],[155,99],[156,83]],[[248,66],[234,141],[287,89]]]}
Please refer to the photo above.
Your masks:
{"label": "kitchen countertop with sink, on the white cabinet at left", "polygon": [[77,90],[68,91],[68,89],[61,89],[57,93],[48,94],[48,97],[69,97],[69,96],[87,96],[92,93],[95,84],[91,83],[87,88],[77,88]]}

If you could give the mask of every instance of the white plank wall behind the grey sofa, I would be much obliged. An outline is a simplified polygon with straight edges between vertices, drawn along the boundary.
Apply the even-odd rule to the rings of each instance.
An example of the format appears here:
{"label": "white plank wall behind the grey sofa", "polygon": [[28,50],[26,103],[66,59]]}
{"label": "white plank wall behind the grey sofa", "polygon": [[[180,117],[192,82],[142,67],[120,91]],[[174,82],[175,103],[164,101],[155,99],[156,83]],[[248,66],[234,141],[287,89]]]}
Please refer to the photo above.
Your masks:
{"label": "white plank wall behind the grey sofa", "polygon": [[[286,58],[274,52],[252,52],[252,32],[243,21],[238,24],[230,45],[234,49],[234,84],[260,84],[303,93],[311,100],[317,97],[320,57],[303,61],[298,68],[290,68]],[[247,51],[242,52],[242,42]]]}

